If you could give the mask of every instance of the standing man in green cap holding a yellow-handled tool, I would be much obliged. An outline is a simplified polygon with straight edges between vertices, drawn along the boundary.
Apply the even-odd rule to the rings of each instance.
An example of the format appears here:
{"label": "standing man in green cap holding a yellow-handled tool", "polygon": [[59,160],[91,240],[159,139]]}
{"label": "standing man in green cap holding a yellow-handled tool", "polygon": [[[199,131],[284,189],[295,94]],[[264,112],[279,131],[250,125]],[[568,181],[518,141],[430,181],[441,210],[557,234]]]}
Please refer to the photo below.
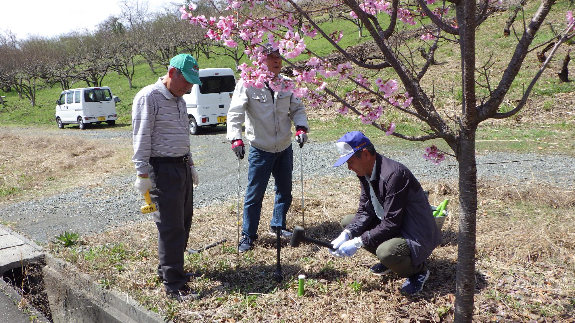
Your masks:
{"label": "standing man in green cap holding a yellow-handled tool", "polygon": [[198,173],[182,98],[194,84],[201,86],[199,70],[193,56],[175,56],[167,74],[141,89],[132,105],[134,186],[142,195],[150,191],[158,208],[152,213],[158,227],[158,276],[166,295],[178,301],[199,297],[186,286],[192,275],[183,271]]}

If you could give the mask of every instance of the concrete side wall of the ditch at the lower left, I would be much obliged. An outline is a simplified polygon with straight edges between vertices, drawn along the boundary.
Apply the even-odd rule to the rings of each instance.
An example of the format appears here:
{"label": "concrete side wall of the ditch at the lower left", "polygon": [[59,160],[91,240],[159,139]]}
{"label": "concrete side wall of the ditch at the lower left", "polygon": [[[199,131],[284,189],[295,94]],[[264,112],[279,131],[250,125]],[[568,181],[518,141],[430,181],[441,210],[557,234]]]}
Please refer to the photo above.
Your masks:
{"label": "concrete side wall of the ditch at the lower left", "polygon": [[42,272],[54,323],[174,323],[144,309],[125,293],[102,289],[90,275],[61,259],[46,254],[45,260]]}

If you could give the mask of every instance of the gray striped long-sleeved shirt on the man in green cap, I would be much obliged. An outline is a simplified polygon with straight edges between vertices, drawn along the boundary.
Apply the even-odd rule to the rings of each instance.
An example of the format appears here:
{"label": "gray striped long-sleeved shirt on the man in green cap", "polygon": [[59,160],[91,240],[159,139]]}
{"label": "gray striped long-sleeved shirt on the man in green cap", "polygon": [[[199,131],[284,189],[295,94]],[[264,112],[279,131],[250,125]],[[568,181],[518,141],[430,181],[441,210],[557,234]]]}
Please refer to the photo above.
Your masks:
{"label": "gray striped long-sleeved shirt on the man in green cap", "polygon": [[168,91],[162,78],[141,89],[132,104],[132,128],[137,174],[148,173],[150,157],[189,155],[190,128],[186,102]]}

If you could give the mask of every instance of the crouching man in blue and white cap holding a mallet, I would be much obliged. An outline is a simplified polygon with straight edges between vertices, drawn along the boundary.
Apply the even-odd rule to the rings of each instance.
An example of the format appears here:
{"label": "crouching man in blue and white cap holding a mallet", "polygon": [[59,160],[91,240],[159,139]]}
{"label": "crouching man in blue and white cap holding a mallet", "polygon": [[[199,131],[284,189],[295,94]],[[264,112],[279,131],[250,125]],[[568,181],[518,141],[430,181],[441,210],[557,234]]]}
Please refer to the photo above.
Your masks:
{"label": "crouching man in blue and white cap holding a mallet", "polygon": [[379,260],[370,268],[373,274],[394,271],[407,277],[402,293],[419,293],[430,275],[425,259],[441,242],[421,184],[403,164],[375,152],[359,131],[344,134],[336,145],[340,157],[333,167],[347,162],[361,182],[361,195],[357,212],[343,218],[344,230],[329,253],[351,257],[364,248]]}

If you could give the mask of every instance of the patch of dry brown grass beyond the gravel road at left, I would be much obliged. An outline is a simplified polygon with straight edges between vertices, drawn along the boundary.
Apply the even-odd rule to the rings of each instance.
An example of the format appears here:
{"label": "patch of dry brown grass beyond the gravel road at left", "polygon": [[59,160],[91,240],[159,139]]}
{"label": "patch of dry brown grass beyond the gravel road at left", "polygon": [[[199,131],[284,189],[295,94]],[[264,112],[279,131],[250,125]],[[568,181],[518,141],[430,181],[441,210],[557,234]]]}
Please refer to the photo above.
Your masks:
{"label": "patch of dry brown grass beyond the gravel road at left", "polygon": [[71,136],[0,133],[0,198],[40,190],[47,183],[90,181],[90,176],[129,169],[127,150]]}

